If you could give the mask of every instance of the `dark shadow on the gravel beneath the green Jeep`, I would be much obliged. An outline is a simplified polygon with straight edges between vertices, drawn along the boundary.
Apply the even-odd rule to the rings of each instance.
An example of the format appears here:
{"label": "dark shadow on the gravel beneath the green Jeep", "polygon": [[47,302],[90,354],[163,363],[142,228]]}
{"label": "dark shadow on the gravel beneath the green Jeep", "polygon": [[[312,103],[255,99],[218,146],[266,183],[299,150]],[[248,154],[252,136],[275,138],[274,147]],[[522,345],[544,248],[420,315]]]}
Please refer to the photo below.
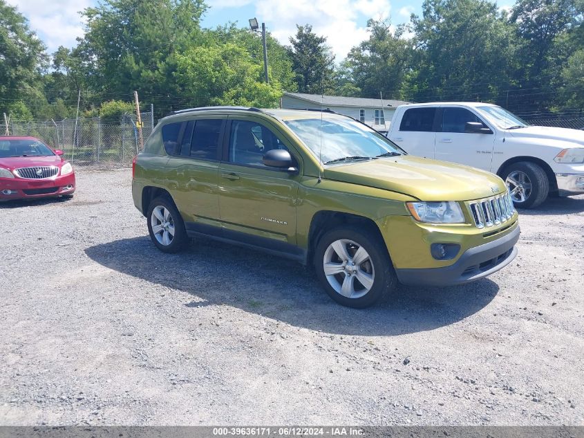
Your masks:
{"label": "dark shadow on the gravel beneath the green Jeep", "polygon": [[342,307],[300,264],[254,250],[197,239],[185,253],[164,254],[149,237],[91,246],[95,262],[193,295],[189,308],[227,304],[295,327],[346,335],[399,335],[444,327],[483,309],[498,285],[479,280],[451,288],[399,286],[369,309]]}

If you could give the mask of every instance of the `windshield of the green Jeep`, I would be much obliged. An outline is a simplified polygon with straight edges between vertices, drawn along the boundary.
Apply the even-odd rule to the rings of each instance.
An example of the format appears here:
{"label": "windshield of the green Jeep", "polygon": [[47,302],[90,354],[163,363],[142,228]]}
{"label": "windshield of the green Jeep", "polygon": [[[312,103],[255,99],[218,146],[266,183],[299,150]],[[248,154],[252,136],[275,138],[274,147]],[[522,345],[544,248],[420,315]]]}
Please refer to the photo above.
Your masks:
{"label": "windshield of the green Jeep", "polygon": [[375,158],[404,153],[381,134],[350,118],[305,118],[285,120],[285,124],[324,164],[342,158]]}

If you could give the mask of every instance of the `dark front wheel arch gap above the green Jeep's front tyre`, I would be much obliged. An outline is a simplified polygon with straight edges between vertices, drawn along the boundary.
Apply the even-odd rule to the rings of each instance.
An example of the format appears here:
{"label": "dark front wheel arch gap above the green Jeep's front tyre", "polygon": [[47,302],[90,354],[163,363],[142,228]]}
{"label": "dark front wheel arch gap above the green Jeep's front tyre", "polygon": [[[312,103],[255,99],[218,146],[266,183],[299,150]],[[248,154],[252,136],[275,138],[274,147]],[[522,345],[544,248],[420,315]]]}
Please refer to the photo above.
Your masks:
{"label": "dark front wheel arch gap above the green Jeep's front tyre", "polygon": [[[321,237],[329,230],[343,225],[362,226],[366,230],[373,232],[375,237],[383,241],[383,235],[377,223],[368,217],[352,215],[351,213],[339,212],[335,210],[320,210],[316,212],[310,221],[310,230],[308,232],[308,254],[307,265],[310,266],[313,262],[314,250]],[[386,245],[384,248],[387,249]]]}

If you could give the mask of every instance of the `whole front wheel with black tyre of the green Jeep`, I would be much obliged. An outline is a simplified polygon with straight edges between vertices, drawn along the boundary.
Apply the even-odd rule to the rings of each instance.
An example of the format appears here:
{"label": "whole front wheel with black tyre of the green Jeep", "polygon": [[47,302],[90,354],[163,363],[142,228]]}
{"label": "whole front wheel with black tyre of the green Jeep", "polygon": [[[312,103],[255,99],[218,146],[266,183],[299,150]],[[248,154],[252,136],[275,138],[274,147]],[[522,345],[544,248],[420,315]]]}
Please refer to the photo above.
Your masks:
{"label": "whole front wheel with black tyre of the green Jeep", "polygon": [[397,284],[393,264],[379,239],[350,226],[321,237],[314,268],[330,298],[347,307],[369,307],[386,298]]}

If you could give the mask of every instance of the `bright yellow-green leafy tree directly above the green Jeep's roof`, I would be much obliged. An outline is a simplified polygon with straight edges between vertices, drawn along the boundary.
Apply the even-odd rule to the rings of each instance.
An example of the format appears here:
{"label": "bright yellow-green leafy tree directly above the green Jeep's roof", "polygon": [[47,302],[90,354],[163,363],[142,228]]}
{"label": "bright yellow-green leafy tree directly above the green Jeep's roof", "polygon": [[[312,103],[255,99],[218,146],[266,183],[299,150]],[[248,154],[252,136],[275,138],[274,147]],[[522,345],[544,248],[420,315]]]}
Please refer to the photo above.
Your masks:
{"label": "bright yellow-green leafy tree directly above the green Jeep's roof", "polygon": [[276,107],[279,82],[262,80],[263,66],[233,43],[198,46],[177,55],[176,82],[193,106]]}

